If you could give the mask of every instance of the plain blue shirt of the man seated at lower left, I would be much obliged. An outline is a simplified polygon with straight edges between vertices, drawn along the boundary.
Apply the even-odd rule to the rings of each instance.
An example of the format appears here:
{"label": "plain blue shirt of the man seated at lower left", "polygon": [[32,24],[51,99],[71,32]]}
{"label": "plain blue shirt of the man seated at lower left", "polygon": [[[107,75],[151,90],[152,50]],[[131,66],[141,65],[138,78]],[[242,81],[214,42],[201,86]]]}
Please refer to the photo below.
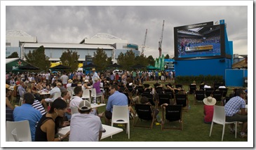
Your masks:
{"label": "plain blue shirt of the man seated at lower left", "polygon": [[42,115],[39,110],[34,109],[31,104],[22,104],[20,107],[15,107],[13,110],[14,121],[29,121],[32,141],[36,133],[36,123],[40,121]]}

